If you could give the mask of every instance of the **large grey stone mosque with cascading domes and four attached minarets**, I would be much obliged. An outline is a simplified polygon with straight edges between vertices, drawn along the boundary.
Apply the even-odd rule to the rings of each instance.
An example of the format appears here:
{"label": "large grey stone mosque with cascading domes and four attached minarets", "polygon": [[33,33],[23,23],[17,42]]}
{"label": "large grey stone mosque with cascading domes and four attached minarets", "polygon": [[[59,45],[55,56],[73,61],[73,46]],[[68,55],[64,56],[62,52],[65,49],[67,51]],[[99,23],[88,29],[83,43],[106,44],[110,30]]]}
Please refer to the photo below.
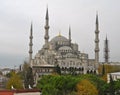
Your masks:
{"label": "large grey stone mosque with cascading domes and four attached minarets", "polygon": [[96,15],[95,23],[95,58],[89,59],[89,55],[79,50],[79,45],[72,42],[71,29],[69,27],[68,38],[59,34],[49,40],[49,14],[48,8],[45,17],[45,43],[32,58],[33,30],[30,29],[29,63],[35,78],[42,75],[49,75],[54,68],[59,66],[61,74],[87,74],[98,73],[99,65],[99,23]]}

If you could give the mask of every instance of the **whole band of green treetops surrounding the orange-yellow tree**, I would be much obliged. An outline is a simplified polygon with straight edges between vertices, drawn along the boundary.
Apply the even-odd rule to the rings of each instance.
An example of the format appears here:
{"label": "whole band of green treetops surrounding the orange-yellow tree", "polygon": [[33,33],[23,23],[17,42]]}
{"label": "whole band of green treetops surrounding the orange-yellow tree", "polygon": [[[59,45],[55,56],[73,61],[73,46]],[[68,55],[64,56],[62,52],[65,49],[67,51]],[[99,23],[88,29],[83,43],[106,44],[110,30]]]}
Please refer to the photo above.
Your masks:
{"label": "whole band of green treetops surrounding the orange-yellow tree", "polygon": [[89,81],[98,91],[98,95],[105,95],[106,82],[96,75],[47,75],[43,76],[37,84],[43,95],[77,95],[76,85],[82,81]]}

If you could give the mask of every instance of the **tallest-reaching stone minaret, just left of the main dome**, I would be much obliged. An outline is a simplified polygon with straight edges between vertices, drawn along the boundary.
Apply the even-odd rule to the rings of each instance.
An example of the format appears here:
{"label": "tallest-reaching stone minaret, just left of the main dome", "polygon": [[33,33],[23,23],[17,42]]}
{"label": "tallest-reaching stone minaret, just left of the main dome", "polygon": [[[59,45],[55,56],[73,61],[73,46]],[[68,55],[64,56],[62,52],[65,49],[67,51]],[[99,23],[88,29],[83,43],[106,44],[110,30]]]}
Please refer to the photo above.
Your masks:
{"label": "tallest-reaching stone minaret, just left of the main dome", "polygon": [[44,39],[45,39],[45,48],[49,48],[48,47],[48,41],[49,41],[49,16],[48,16],[48,8],[47,8],[47,11],[46,11],[46,23],[45,23],[45,36],[44,36]]}

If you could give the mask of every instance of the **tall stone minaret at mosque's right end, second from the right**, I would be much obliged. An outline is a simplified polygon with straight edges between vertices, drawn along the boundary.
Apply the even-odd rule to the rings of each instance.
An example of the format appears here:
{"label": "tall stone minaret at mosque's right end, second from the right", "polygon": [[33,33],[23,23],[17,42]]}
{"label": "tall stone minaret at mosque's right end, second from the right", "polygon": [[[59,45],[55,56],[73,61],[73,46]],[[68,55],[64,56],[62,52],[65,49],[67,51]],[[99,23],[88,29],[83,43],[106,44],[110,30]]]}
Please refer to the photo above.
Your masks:
{"label": "tall stone minaret at mosque's right end, second from the right", "polygon": [[99,23],[98,14],[96,14],[96,30],[95,30],[95,64],[99,63]]}

